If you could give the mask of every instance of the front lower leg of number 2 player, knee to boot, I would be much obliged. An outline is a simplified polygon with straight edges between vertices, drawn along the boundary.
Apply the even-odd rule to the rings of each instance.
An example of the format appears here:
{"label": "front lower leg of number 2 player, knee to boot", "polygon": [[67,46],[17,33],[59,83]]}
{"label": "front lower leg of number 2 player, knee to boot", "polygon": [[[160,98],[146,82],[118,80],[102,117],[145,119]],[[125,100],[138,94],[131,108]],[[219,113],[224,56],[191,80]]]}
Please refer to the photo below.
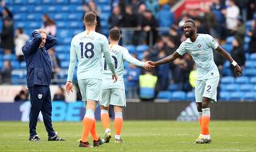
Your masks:
{"label": "front lower leg of number 2 player, knee to boot", "polygon": [[[202,107],[202,127],[201,134],[196,139],[196,143],[210,143],[209,123],[210,123],[210,99],[202,97],[202,104],[198,103],[198,109]],[[198,111],[199,112],[199,111]]]}

